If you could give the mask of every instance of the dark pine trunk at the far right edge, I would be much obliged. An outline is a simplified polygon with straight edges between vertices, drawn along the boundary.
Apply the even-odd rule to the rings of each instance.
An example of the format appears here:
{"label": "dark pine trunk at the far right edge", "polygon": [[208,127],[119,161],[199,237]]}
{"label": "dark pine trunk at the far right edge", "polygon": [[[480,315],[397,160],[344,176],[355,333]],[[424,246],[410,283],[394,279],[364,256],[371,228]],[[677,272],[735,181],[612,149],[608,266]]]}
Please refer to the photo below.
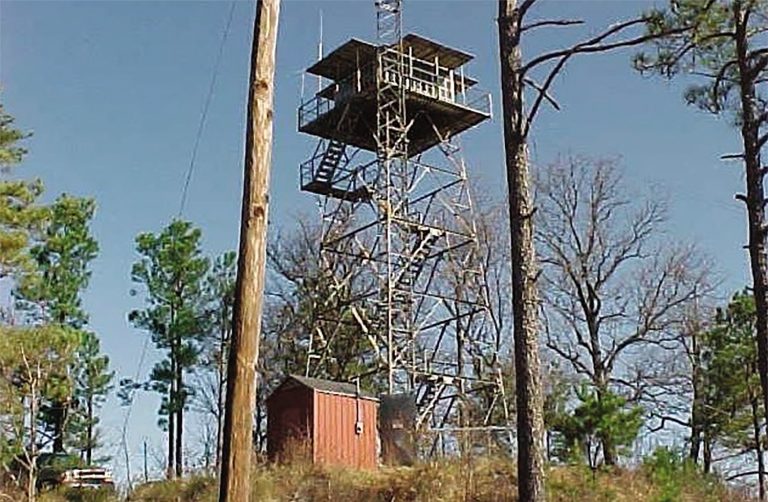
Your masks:
{"label": "dark pine trunk at the far right edge", "polygon": [[736,59],[739,67],[741,98],[741,137],[747,178],[747,219],[752,291],[755,297],[758,373],[762,389],[763,412],[768,420],[768,260],[765,253],[765,193],[763,166],[760,159],[760,125],[756,104],[755,78],[749,64],[746,20],[742,4],[734,2],[736,21]]}

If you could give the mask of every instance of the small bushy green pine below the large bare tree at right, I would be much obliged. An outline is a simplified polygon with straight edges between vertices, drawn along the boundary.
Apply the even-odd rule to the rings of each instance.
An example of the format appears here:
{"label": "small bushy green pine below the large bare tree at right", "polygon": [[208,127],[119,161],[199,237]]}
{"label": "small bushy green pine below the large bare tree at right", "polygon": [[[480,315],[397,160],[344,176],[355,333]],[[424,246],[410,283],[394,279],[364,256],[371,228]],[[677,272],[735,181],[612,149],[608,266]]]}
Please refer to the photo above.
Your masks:
{"label": "small bushy green pine below the large bare tree at right", "polygon": [[609,390],[582,386],[576,390],[579,405],[572,412],[552,417],[555,456],[586,460],[596,467],[600,447],[608,441],[617,449],[630,446],[643,425],[642,408]]}

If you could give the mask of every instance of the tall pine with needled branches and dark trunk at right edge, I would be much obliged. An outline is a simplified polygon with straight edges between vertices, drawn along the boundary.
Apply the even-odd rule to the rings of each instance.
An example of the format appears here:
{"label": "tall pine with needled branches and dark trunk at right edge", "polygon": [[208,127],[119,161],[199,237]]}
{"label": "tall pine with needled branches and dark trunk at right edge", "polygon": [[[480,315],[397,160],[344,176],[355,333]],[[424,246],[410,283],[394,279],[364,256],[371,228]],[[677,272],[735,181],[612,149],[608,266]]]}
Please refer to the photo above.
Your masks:
{"label": "tall pine with needled branches and dark trunk at right edge", "polygon": [[[755,298],[758,373],[761,400],[768,414],[768,248],[766,248],[765,166],[768,142],[768,47],[765,44],[765,0],[673,0],[647,22],[652,50],[638,54],[635,67],[666,78],[693,79],[688,104],[733,119],[742,150],[729,155],[744,165],[744,202],[752,291]],[[768,416],[768,415],[767,415]]]}

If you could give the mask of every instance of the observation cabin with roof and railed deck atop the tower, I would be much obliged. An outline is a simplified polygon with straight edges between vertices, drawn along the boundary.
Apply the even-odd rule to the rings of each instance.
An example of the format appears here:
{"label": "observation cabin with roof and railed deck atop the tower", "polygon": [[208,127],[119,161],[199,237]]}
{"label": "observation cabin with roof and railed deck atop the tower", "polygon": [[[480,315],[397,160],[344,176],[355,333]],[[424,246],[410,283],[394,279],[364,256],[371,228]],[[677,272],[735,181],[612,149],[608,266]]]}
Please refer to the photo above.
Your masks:
{"label": "observation cabin with roof and railed deck atop the tower", "polygon": [[[416,34],[389,49],[351,39],[307,69],[329,83],[299,107],[299,131],[330,144],[302,165],[303,190],[334,196],[331,185],[340,174],[336,166],[348,146],[382,156],[382,143],[388,142],[381,138],[387,107],[382,88],[401,93],[399,101],[405,103],[400,113],[407,117],[406,146],[396,156],[417,156],[490,118],[490,94],[464,71],[472,55]],[[392,134],[384,134],[392,142]]]}

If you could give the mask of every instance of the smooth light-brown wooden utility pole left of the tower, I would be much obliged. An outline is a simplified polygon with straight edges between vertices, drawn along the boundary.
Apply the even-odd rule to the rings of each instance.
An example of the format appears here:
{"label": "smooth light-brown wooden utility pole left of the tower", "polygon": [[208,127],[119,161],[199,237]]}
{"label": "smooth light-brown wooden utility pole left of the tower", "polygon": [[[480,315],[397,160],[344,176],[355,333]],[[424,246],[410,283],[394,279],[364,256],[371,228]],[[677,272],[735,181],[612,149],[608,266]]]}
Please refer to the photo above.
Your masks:
{"label": "smooth light-brown wooden utility pole left of the tower", "polygon": [[248,85],[245,176],[219,502],[247,502],[253,461],[256,360],[261,336],[267,244],[272,102],[280,0],[257,0]]}

